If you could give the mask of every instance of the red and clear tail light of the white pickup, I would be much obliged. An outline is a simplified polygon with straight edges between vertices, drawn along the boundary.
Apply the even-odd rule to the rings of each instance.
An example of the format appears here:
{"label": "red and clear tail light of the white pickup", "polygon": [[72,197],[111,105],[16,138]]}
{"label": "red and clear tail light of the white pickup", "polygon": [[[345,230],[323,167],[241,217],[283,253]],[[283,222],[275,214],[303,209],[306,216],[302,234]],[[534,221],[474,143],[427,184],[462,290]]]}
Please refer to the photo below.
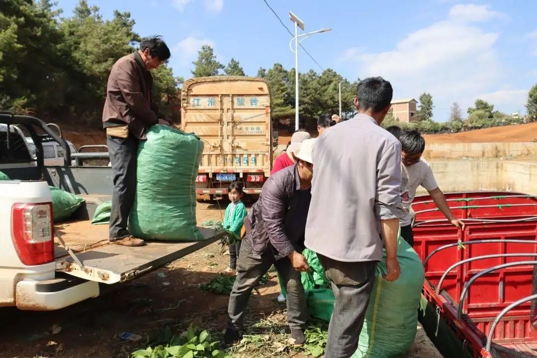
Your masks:
{"label": "red and clear tail light of the white pickup", "polygon": [[52,203],[17,203],[11,208],[11,238],[24,265],[54,261]]}

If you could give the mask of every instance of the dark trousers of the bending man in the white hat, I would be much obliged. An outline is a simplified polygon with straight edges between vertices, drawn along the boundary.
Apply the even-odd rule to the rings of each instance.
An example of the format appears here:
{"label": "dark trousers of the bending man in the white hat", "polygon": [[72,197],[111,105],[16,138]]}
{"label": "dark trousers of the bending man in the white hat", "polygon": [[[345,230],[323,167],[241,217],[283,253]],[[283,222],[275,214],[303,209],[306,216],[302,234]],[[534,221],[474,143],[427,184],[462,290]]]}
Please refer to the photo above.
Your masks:
{"label": "dark trousers of the bending man in the white hat", "polygon": [[241,245],[237,277],[229,296],[229,328],[242,330],[246,305],[248,305],[252,289],[257,286],[261,277],[269,271],[272,265],[276,267],[287,288],[287,324],[292,330],[304,327],[308,320],[308,311],[300,272],[293,268],[288,258],[274,259],[270,250],[258,256],[254,255],[252,238],[246,235]]}

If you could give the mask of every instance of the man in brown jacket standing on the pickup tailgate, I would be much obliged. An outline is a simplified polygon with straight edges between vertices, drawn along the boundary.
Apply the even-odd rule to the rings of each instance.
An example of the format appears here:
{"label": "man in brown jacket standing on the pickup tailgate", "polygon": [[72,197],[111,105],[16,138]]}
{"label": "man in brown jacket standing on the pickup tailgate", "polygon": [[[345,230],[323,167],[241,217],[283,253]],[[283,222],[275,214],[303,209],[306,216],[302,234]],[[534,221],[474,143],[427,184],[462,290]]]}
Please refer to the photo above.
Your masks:
{"label": "man in brown jacket standing on the pickup tailgate", "polygon": [[144,244],[127,230],[136,191],[136,151],[138,142],[146,139],[147,127],[157,123],[169,125],[159,119],[162,116],[151,101],[153,76],[149,73],[169,58],[170,49],[159,36],[146,38],[134,54],[114,63],[108,77],[103,127],[114,173],[109,234],[113,244]]}

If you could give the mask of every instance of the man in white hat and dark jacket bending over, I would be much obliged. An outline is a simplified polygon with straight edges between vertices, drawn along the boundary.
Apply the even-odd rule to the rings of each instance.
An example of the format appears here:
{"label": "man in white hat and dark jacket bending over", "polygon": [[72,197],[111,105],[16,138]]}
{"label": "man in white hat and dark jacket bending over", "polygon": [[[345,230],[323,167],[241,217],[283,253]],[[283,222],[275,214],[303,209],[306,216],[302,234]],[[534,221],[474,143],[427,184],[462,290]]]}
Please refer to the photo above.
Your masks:
{"label": "man in white hat and dark jacket bending over", "polygon": [[300,272],[309,269],[301,252],[311,200],[313,145],[315,139],[302,142],[295,152],[297,164],[270,176],[263,186],[252,213],[246,217],[246,237],[241,245],[237,278],[229,296],[229,324],[226,344],[240,339],[244,313],[252,289],[274,265],[287,289],[287,323],[294,345],[304,345],[304,324],[308,319],[306,297]]}

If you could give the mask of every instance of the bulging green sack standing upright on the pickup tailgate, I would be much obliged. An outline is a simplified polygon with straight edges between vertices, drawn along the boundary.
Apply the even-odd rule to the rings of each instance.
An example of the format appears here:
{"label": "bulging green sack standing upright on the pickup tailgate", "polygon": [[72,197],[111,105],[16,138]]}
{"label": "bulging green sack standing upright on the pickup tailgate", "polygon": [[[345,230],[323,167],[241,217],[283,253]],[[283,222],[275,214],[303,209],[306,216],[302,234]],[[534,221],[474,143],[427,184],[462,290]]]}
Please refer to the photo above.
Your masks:
{"label": "bulging green sack standing upright on the pickup tailgate", "polygon": [[193,133],[155,125],[140,141],[129,232],[149,240],[198,241],[195,177],[203,143]]}

